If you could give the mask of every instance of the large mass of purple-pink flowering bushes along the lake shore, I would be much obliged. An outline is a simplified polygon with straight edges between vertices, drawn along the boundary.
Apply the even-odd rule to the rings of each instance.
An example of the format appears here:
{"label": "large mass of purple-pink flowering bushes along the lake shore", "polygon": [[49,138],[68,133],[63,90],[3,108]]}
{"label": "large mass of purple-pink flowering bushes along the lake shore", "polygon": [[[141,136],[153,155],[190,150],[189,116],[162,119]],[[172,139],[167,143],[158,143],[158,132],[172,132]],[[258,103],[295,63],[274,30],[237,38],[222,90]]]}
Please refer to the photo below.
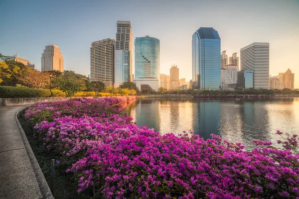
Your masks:
{"label": "large mass of purple-pink flowering bushes along the lake shore", "polygon": [[[126,98],[126,99],[125,99]],[[282,149],[255,140],[244,150],[212,135],[159,135],[132,123],[114,104],[134,97],[44,102],[26,110],[37,138],[58,154],[78,193],[107,199],[299,197],[297,135]],[[282,132],[278,131],[278,134]]]}

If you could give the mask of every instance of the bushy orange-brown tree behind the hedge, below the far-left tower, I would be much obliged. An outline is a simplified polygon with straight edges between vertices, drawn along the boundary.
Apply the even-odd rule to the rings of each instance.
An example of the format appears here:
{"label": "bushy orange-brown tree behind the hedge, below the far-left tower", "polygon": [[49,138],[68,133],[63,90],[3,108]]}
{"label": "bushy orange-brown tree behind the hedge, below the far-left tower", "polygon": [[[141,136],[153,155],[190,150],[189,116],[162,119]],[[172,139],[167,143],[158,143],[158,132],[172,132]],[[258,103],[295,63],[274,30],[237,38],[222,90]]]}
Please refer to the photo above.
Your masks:
{"label": "bushy orange-brown tree behind the hedge, below the far-left tower", "polygon": [[21,85],[26,87],[43,89],[50,83],[49,75],[49,72],[39,72],[26,66],[19,72],[17,79]]}

